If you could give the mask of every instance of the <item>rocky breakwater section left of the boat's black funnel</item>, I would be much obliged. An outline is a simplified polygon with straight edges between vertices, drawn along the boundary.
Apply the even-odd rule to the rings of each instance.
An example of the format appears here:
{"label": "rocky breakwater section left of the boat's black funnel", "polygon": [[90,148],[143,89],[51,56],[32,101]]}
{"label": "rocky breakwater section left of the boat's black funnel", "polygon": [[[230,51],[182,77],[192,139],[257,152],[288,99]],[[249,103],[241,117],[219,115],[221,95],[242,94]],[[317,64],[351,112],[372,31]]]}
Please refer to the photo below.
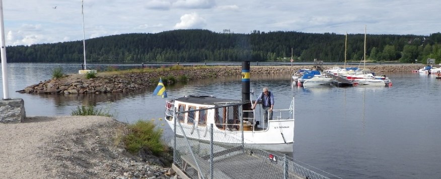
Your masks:
{"label": "rocky breakwater section left of the boat's black funnel", "polygon": [[[185,76],[186,80],[202,78],[215,78],[240,74],[239,68],[193,68],[185,70],[158,70],[155,72],[133,73],[98,73],[96,78],[87,79],[85,74],[69,74],[64,78],[50,79],[26,87],[16,92],[31,94],[87,94],[87,93],[124,93],[143,89],[148,86],[158,85],[162,77],[164,83],[179,82],[179,77]],[[173,77],[170,80],[168,77]]]}

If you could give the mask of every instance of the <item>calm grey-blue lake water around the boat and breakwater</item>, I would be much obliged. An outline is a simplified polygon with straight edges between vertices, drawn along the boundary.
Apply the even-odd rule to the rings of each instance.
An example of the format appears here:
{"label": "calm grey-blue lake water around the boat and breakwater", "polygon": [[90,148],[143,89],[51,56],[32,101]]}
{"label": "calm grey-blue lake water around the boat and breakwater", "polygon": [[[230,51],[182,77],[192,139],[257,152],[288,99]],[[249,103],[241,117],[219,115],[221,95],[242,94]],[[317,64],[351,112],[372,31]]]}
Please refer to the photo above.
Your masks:
{"label": "calm grey-blue lake water around the boat and breakwater", "polygon": [[[155,87],[78,96],[15,92],[50,79],[56,67],[77,73],[81,65],[8,64],[9,95],[24,99],[27,116],[70,115],[77,106],[93,104],[121,122],[155,119],[170,133],[159,120],[165,100],[152,94]],[[385,75],[392,87],[299,88],[287,75],[252,76],[251,88],[268,86],[276,109],[287,108],[295,96],[295,159],[342,178],[440,178],[441,80],[412,72]],[[3,86],[0,92],[3,97]],[[240,76],[167,86],[167,94],[241,99]]]}

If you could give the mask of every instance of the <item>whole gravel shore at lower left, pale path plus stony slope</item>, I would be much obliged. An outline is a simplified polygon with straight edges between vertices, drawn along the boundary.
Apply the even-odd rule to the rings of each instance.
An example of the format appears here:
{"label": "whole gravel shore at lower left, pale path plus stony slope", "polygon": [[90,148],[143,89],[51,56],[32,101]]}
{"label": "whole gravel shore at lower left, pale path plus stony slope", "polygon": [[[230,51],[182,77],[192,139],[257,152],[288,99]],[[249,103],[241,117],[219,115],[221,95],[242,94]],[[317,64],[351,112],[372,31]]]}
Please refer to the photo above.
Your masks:
{"label": "whole gravel shore at lower left, pale path plus stony slope", "polygon": [[35,116],[0,124],[1,178],[174,178],[126,152],[126,125],[103,116]]}

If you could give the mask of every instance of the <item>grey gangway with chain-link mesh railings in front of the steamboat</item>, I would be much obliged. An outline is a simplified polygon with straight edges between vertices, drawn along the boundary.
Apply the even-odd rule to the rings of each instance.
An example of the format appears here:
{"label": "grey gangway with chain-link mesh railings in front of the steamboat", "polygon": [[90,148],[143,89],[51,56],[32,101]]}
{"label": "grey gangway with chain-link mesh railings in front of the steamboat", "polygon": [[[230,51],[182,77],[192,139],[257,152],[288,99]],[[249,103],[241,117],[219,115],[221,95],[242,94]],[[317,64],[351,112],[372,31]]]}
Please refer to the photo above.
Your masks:
{"label": "grey gangway with chain-link mesh railings in front of the steamboat", "polygon": [[[175,111],[174,115],[185,115],[185,111]],[[242,136],[213,132],[213,124],[205,130],[185,128],[188,127],[174,120],[172,168],[182,178],[339,178],[286,154],[247,148]],[[177,131],[184,135],[178,136]],[[186,132],[209,135],[211,140],[190,139]],[[229,145],[213,142],[213,136],[222,136]]]}

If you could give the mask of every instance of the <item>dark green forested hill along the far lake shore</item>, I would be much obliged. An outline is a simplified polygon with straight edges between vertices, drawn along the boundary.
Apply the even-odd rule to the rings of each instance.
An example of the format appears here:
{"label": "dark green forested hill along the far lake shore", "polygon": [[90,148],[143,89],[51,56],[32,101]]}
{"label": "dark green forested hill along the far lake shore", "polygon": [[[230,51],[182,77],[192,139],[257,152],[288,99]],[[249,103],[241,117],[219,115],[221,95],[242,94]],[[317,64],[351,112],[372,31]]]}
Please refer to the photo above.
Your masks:
{"label": "dark green forested hill along the far lake shore", "polygon": [[[228,31],[227,31],[228,32]],[[347,60],[361,61],[364,34],[347,35]],[[86,40],[88,63],[289,61],[343,62],[345,35],[302,32],[217,33],[173,30],[156,34],[121,34]],[[441,33],[370,35],[367,60],[420,63],[441,62]],[[83,41],[8,46],[8,62],[82,63]]]}

